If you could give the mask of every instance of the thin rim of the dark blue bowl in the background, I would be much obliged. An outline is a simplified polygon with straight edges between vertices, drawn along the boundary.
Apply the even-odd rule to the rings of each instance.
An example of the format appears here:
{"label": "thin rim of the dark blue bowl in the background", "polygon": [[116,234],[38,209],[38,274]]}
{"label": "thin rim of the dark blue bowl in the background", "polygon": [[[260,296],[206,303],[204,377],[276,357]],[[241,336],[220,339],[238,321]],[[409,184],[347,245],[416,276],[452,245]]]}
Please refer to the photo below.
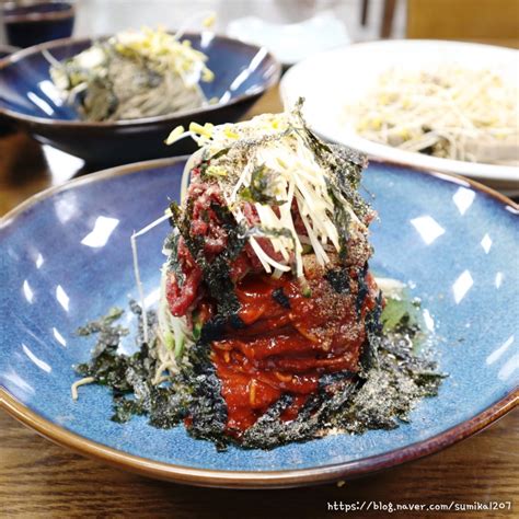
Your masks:
{"label": "thin rim of the dark blue bowl in the background", "polygon": [[[201,33],[185,32],[184,36],[197,37],[197,36],[201,36]],[[95,39],[103,41],[109,37],[111,35],[108,36],[104,35],[104,36],[97,36]],[[241,48],[247,48],[250,50],[255,50],[256,53],[263,48],[263,47],[257,47],[256,45],[245,44],[243,42],[240,42],[239,39],[230,38],[228,36],[223,36],[220,34],[215,34],[215,39],[218,39],[220,42],[226,42],[230,45],[233,45],[234,47],[241,47]],[[7,68],[11,65],[16,64],[18,61],[24,59],[27,56],[41,54],[43,50],[49,50],[55,47],[60,47],[64,45],[77,45],[77,44],[82,44],[82,43],[93,42],[93,41],[94,41],[93,37],[83,37],[83,38],[69,37],[69,38],[54,39],[51,42],[45,42],[39,45],[34,45],[33,47],[28,47],[26,49],[15,51],[7,56],[2,60],[0,60],[0,71],[3,68]],[[96,122],[96,123],[85,122],[85,120],[80,120],[80,119],[68,120],[68,119],[48,119],[45,117],[35,117],[34,115],[21,114],[19,112],[15,112],[9,108],[2,108],[1,106],[0,106],[0,115],[4,115],[5,117],[9,117],[11,119],[20,120],[27,124],[33,124],[33,125],[37,124],[37,125],[44,125],[44,126],[61,126],[64,128],[78,128],[78,127],[118,128],[118,127],[127,127],[127,126],[148,126],[148,125],[151,126],[157,123],[175,120],[177,118],[195,117],[200,114],[206,114],[206,113],[209,114],[218,109],[227,108],[229,106],[243,103],[244,101],[247,101],[255,96],[260,96],[264,94],[268,89],[277,84],[281,77],[281,65],[276,60],[276,58],[269,51],[265,53],[265,59],[267,59],[270,67],[273,67],[270,77],[267,78],[267,80],[263,84],[257,85],[251,89],[247,93],[238,95],[223,104],[216,104],[216,105],[209,105],[209,106],[201,106],[199,108],[184,109],[181,112],[174,112],[172,114],[166,114],[166,115],[158,115],[154,117],[142,117],[139,119],[124,119],[124,120]]]}

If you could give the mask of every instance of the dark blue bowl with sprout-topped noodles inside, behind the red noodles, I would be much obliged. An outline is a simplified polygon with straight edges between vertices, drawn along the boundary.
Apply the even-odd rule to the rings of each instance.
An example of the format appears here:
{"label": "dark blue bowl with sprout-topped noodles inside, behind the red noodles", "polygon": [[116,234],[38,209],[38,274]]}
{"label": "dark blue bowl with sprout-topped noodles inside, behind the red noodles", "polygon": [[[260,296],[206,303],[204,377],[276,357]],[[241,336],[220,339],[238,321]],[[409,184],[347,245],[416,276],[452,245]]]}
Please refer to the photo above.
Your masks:
{"label": "dark blue bowl with sprout-topped noodles inside, behind the red noodles", "polygon": [[14,53],[0,65],[0,114],[42,143],[112,165],[182,154],[172,127],[238,120],[280,66],[264,48],[162,28],[65,38]]}

